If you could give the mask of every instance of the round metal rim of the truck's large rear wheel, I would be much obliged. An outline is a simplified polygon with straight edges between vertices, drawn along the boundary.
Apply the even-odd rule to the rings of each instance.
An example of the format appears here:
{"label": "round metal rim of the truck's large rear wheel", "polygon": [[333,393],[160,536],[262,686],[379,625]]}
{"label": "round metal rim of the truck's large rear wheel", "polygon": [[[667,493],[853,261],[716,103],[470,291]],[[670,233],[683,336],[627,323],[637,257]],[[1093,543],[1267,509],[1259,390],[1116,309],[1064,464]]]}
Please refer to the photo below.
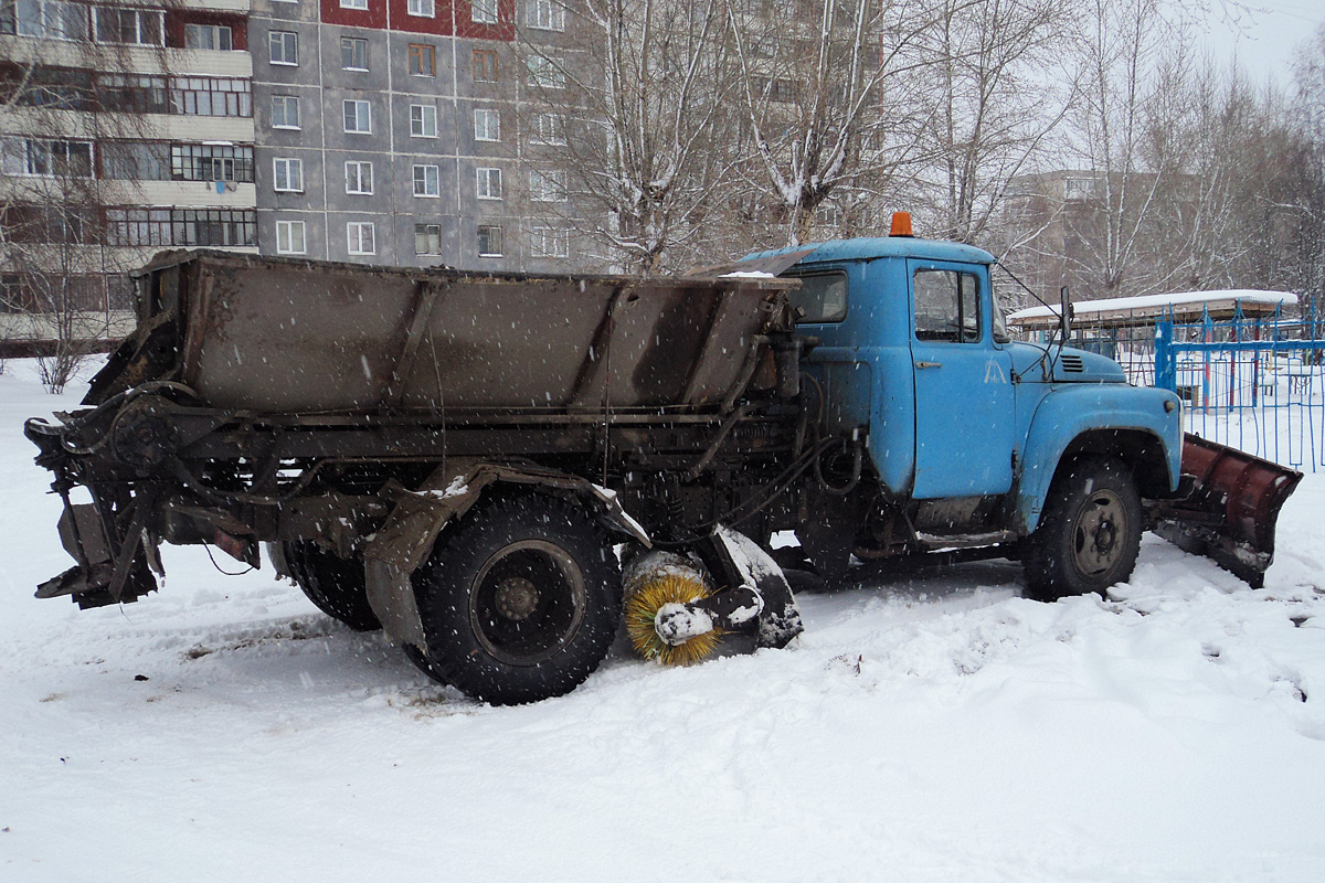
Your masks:
{"label": "round metal rim of the truck's large rear wheel", "polygon": [[584,573],[566,549],[545,540],[505,545],[470,585],[469,625],[480,646],[511,666],[550,659],[584,620]]}

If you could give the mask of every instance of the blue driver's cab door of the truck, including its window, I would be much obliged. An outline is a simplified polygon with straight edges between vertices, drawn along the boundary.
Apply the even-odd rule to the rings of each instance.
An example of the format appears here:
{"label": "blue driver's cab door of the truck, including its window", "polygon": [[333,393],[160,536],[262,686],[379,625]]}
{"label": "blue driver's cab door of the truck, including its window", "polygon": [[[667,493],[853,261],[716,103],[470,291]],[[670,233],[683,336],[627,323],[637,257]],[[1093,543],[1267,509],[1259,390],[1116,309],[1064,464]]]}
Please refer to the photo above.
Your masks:
{"label": "blue driver's cab door of the truck, including its window", "polygon": [[988,269],[906,262],[916,385],[913,496],[1006,494],[1012,486],[1011,356],[995,343]]}

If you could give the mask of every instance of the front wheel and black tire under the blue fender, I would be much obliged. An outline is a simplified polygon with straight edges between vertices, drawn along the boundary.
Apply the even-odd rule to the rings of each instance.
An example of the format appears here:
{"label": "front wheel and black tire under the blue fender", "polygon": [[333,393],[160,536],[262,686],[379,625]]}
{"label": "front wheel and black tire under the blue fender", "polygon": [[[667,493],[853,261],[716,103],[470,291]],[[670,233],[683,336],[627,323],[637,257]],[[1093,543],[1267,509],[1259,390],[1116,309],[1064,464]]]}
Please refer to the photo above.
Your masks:
{"label": "front wheel and black tire under the blue fender", "polygon": [[1026,555],[1026,597],[1056,601],[1132,576],[1141,548],[1141,498],[1116,459],[1083,458],[1053,479]]}

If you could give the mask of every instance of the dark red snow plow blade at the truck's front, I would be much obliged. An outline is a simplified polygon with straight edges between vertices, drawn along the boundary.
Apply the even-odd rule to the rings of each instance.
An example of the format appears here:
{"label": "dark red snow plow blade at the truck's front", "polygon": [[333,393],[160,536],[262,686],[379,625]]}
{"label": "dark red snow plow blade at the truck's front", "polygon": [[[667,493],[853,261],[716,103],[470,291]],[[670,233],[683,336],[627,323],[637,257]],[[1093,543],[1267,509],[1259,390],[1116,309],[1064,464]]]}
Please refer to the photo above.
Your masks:
{"label": "dark red snow plow blade at the truck's front", "polygon": [[1183,483],[1191,492],[1157,500],[1154,532],[1178,548],[1212,559],[1253,589],[1275,560],[1275,523],[1302,474],[1187,433],[1182,445]]}

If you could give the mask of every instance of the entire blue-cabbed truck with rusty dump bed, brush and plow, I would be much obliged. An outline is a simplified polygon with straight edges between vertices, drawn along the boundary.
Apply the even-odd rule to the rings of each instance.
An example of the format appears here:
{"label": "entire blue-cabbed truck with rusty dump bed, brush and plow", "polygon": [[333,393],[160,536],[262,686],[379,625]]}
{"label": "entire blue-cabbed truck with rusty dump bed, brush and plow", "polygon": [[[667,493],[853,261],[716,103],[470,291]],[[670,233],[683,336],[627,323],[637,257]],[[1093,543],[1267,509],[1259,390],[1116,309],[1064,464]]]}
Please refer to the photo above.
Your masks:
{"label": "entire blue-cabbed truck with rusty dump bed, brush and plow", "polygon": [[1012,342],[994,263],[902,236],[656,279],[158,256],[85,408],[25,426],[77,561],[37,596],[135,601],[162,543],[266,544],[331,617],[521,703],[623,621],[665,662],[786,645],[792,567],[1008,557],[1051,601],[1161,528],[1257,582],[1297,475]]}

